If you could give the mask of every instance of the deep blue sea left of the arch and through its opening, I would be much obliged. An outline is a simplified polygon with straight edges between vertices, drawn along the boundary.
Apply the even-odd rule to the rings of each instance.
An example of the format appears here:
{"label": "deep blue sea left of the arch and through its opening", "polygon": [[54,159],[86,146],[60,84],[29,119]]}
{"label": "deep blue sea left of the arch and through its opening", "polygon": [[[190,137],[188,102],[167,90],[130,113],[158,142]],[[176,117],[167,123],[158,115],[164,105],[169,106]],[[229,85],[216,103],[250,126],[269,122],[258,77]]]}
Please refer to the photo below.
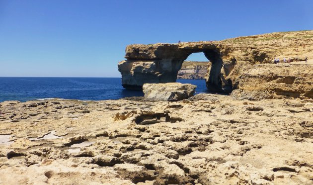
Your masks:
{"label": "deep blue sea left of the arch and through its opening", "polygon": [[[207,92],[205,80],[177,80],[197,86],[196,93]],[[0,102],[45,98],[105,100],[143,96],[141,91],[125,90],[121,78],[32,78],[0,77]]]}

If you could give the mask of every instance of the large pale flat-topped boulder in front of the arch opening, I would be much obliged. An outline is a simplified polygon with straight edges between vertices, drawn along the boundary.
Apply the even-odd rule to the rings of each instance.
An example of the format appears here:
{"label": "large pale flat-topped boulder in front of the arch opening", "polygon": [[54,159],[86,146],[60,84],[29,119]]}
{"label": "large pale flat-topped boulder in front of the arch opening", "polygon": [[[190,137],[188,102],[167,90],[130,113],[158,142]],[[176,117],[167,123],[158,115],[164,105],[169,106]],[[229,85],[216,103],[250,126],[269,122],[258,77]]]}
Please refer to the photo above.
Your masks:
{"label": "large pale flat-topped boulder in front of the arch opening", "polygon": [[194,95],[197,86],[181,83],[144,84],[145,99],[179,101]]}

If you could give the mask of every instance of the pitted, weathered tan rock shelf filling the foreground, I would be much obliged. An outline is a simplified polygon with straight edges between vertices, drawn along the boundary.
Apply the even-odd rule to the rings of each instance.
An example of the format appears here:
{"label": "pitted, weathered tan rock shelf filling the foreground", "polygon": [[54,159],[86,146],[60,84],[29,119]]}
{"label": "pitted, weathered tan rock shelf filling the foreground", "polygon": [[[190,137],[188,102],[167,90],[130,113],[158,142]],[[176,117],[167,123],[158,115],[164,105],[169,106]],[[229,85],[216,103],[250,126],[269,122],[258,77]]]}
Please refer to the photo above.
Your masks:
{"label": "pitted, weathered tan rock shelf filling the foreground", "polygon": [[1,102],[0,184],[313,182],[312,99],[128,99]]}

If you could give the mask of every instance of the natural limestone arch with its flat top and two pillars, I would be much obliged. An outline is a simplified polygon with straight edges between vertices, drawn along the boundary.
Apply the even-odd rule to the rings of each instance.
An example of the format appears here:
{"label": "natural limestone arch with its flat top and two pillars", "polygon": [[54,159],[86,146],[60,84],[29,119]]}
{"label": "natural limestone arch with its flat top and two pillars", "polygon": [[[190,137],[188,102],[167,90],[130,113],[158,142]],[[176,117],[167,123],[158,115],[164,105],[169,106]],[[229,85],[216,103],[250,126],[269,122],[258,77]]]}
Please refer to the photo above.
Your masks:
{"label": "natural limestone arch with its flat top and two pillars", "polygon": [[184,60],[192,53],[203,52],[212,63],[206,86],[210,91],[222,92],[221,49],[222,45],[210,42],[129,45],[126,47],[127,60],[118,64],[122,74],[122,86],[130,90],[141,90],[145,83],[176,82]]}

